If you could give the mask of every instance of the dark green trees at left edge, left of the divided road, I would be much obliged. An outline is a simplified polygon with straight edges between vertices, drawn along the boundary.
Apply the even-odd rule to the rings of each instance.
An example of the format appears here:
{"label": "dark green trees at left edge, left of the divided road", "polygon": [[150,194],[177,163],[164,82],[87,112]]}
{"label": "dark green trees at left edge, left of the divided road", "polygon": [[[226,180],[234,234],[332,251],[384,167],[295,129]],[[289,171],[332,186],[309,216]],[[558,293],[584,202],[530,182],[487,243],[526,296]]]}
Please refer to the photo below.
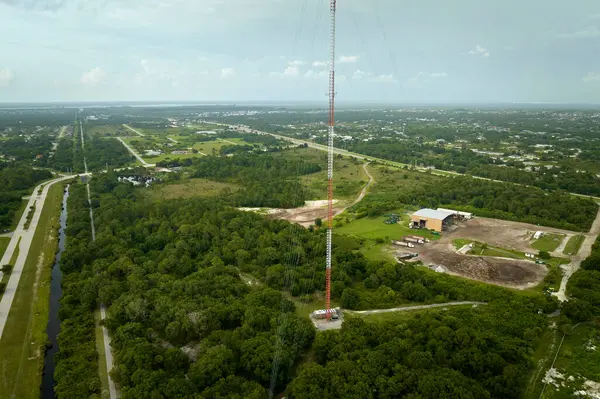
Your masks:
{"label": "dark green trees at left edge, left of the divided road", "polygon": [[0,229],[10,227],[25,195],[41,181],[52,178],[47,170],[0,162]]}

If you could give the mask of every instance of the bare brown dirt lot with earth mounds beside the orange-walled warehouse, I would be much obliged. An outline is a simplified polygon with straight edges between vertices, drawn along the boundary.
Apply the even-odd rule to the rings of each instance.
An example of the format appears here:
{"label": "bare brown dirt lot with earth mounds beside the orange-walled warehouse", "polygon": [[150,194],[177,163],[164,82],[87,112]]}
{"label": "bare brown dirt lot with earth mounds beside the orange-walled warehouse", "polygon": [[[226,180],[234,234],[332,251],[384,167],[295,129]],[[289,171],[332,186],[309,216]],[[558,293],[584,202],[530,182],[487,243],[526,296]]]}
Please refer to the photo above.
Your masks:
{"label": "bare brown dirt lot with earth mounds beside the orange-walled warehouse", "polygon": [[477,218],[459,225],[453,232],[444,233],[439,241],[432,241],[410,250],[418,252],[418,259],[426,265],[441,265],[450,274],[525,289],[539,284],[544,279],[547,274],[545,266],[525,260],[460,255],[456,253],[452,241],[457,238],[468,238],[503,248],[537,252],[529,246],[528,241],[537,230],[572,234],[564,230],[525,223]]}

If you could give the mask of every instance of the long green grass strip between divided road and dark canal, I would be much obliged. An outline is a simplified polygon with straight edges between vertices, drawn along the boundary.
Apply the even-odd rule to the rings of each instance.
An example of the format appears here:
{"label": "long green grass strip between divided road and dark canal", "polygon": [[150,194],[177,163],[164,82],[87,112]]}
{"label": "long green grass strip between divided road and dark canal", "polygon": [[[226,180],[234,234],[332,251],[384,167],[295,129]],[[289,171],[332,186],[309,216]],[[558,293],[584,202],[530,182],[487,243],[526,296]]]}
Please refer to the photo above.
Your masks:
{"label": "long green grass strip between divided road and dark canal", "polygon": [[62,184],[48,192],[0,340],[0,392],[6,397],[40,395],[62,193]]}

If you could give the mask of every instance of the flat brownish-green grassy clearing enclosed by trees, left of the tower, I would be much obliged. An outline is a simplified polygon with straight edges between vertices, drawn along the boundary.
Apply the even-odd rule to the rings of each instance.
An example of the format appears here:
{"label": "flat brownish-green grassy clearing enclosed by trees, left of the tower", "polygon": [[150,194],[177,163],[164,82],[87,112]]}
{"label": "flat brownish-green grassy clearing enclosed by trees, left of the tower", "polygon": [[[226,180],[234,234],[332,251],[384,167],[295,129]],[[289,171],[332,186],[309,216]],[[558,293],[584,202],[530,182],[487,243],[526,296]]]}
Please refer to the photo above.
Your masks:
{"label": "flat brownish-green grassy clearing enclosed by trees, left of the tower", "polygon": [[152,199],[168,200],[173,198],[212,197],[218,195],[226,188],[236,191],[240,186],[233,183],[220,183],[207,179],[185,179],[144,190]]}

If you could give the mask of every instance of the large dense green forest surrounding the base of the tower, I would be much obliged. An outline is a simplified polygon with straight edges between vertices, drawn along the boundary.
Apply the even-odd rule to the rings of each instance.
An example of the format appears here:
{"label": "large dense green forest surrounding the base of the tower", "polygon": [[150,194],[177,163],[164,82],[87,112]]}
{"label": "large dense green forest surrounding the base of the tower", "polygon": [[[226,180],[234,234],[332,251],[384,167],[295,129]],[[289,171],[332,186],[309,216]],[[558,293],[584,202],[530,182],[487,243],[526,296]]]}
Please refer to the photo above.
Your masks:
{"label": "large dense green forest surrounding the base of the tower", "polygon": [[[211,173],[227,177],[226,170]],[[112,375],[123,398],[267,398],[269,390],[291,398],[321,390],[345,398],[515,397],[545,328],[538,309],[556,309],[541,295],[367,261],[352,239],[336,238],[332,295],[343,306],[490,304],[381,327],[349,320],[339,332],[315,334],[296,303],[324,289],[324,230],[214,198],[149,202],[111,175],[91,183],[96,241],[84,187],[73,186],[69,198],[58,398],[98,394],[99,303],[108,307]],[[261,283],[246,284],[241,274]],[[311,348],[315,361],[305,358]]]}

